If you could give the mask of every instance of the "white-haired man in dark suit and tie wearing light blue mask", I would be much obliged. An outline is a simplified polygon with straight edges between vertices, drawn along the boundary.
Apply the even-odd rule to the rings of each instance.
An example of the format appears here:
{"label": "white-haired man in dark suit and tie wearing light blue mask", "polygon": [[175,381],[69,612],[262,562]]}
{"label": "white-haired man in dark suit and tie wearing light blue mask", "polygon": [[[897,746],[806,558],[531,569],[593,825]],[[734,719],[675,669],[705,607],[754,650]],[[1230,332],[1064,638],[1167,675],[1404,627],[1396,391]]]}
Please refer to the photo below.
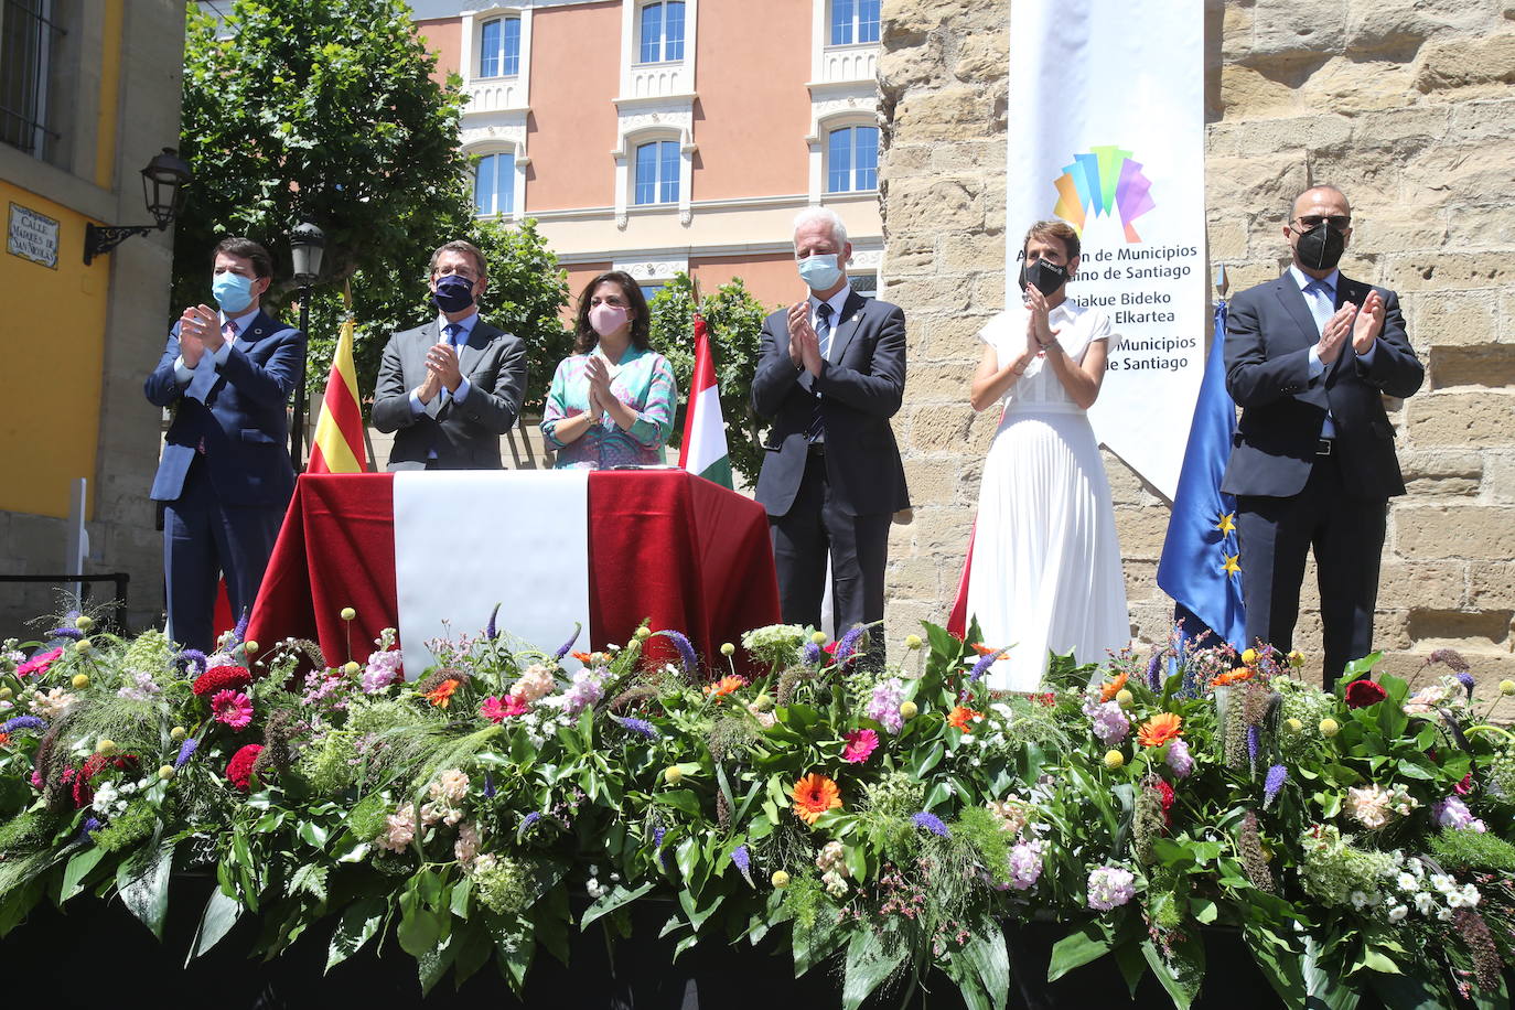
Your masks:
{"label": "white-haired man in dark suit and tie wearing light blue mask", "polygon": [[758,501],[783,619],[821,625],[829,553],[841,634],[883,619],[889,519],[909,500],[889,429],[904,394],[904,313],[847,283],[851,244],[832,210],[800,212],[794,254],[811,295],[764,321],[753,377],[753,407],[773,419]]}

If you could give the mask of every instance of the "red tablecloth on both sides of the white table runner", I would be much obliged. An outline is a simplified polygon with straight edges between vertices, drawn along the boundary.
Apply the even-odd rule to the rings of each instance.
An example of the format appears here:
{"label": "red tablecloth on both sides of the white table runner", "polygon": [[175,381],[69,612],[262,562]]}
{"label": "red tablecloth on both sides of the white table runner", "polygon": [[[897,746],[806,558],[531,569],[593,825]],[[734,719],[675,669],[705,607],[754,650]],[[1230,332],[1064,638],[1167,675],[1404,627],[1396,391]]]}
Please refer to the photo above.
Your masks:
{"label": "red tablecloth on both sides of the white table runner", "polygon": [[[394,474],[300,477],[253,606],[250,641],[312,639],[327,663],[341,665],[364,662],[383,628],[400,627],[392,488]],[[588,509],[589,636],[577,648],[626,644],[650,619],[654,631],[682,631],[718,660],[723,642],[779,622],[768,516],[750,498],[683,471],[595,471]],[[541,530],[551,536],[553,516],[542,516]],[[351,621],[341,618],[344,607],[356,612]],[[565,624],[564,637],[571,631]],[[648,654],[677,660],[661,636],[648,641]],[[745,651],[735,659],[742,668]]]}

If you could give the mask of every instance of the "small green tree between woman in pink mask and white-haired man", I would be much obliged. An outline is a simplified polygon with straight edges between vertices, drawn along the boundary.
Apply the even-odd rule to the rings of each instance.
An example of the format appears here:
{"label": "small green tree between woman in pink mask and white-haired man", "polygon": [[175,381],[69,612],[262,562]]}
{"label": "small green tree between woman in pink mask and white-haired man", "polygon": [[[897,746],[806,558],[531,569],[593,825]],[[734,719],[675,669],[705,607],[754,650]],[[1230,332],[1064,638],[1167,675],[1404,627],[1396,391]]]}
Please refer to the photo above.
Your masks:
{"label": "small green tree between woman in pink mask and white-haired man", "polygon": [[683,441],[683,418],[694,379],[694,313],[700,315],[711,336],[715,382],[721,389],[721,418],[726,421],[726,448],[732,469],[753,486],[762,468],[759,436],[762,419],[753,412],[751,388],[758,371],[758,345],[762,321],[768,315],[742,283],[732,277],[714,292],[700,295],[688,274],[676,274],[647,306],[651,316],[651,345],[673,365],[679,380],[679,413],[671,445]]}

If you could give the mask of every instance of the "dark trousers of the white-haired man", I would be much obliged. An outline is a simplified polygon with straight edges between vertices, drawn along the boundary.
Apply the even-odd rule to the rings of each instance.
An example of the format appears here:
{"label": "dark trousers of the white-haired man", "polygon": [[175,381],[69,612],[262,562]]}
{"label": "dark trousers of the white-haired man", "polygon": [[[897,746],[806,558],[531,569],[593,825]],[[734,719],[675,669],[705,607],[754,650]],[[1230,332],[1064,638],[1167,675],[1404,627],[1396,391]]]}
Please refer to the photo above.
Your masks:
{"label": "dark trousers of the white-haired man", "polygon": [[[883,495],[883,501],[892,497]],[[826,557],[832,559],[832,618],[841,637],[854,624],[883,619],[883,568],[889,559],[889,512],[847,515],[832,498],[826,457],[812,453],[789,512],[768,516],[779,569],[779,604],[786,624],[821,627]],[[870,656],[883,657],[874,628]]]}

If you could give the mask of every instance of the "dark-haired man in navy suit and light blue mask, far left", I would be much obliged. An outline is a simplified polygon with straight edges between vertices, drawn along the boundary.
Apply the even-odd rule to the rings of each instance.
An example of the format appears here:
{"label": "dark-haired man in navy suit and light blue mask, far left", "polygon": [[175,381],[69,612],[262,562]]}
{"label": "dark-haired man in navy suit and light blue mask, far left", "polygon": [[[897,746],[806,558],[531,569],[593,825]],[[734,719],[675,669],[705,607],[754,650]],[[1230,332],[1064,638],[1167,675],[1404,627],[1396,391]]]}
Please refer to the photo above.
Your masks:
{"label": "dark-haired man in navy suit and light blue mask, far left", "polygon": [[306,344],[259,307],[273,279],[262,245],[226,238],[211,262],[220,312],[185,309],[144,386],[174,407],[152,492],[164,503],[168,634],[201,651],[217,631],[217,575],[232,613],[251,610],[289,506],[286,409]]}

